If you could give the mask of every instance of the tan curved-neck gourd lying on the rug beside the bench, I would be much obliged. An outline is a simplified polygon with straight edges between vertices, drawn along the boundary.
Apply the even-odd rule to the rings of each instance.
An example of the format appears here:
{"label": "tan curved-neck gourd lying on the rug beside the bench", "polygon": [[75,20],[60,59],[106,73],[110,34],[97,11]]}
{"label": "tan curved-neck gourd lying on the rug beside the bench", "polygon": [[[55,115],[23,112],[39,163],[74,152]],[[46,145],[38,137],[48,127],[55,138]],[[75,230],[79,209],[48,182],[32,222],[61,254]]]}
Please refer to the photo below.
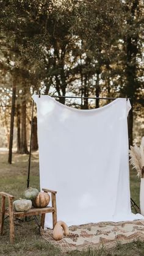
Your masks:
{"label": "tan curved-neck gourd lying on the rug beside the bench", "polygon": [[65,236],[70,234],[68,226],[63,221],[57,221],[54,230],[53,230],[53,238],[54,240],[61,240],[63,237],[63,233]]}

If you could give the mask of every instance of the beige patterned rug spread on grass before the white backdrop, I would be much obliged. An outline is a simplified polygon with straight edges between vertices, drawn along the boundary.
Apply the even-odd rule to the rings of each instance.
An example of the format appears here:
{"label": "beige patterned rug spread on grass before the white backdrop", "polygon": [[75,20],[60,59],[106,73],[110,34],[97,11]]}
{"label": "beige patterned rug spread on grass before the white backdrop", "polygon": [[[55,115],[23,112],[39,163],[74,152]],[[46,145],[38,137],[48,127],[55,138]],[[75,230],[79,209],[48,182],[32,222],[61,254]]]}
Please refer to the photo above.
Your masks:
{"label": "beige patterned rug spread on grass before the white backdrop", "polygon": [[52,230],[41,229],[41,235],[62,252],[82,251],[88,247],[98,249],[101,246],[112,247],[117,243],[126,244],[132,241],[144,241],[144,221],[99,222],[70,227],[70,235],[60,241],[52,238]]}

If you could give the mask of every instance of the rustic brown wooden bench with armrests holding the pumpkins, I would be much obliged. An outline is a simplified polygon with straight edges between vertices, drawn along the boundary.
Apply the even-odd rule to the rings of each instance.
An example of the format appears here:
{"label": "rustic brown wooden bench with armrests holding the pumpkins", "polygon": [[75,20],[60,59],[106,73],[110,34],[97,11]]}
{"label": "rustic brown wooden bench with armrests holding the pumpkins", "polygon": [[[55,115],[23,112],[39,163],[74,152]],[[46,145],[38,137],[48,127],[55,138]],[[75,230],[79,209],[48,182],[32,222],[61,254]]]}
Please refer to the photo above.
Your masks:
{"label": "rustic brown wooden bench with armrests holding the pumpkins", "polygon": [[[9,216],[9,227],[10,227],[10,243],[13,243],[15,240],[15,232],[14,232],[14,219],[15,218],[23,218],[26,216],[35,216],[41,214],[40,227],[44,229],[45,225],[45,214],[52,213],[52,224],[53,229],[57,222],[57,207],[56,207],[56,193],[57,191],[52,191],[50,189],[42,189],[44,192],[51,193],[51,203],[52,207],[45,208],[31,208],[29,211],[14,211],[13,210],[13,199],[14,196],[7,194],[5,192],[0,192],[1,196],[1,211],[0,211],[0,235],[3,234],[4,231],[4,219],[5,215]],[[5,199],[8,199],[9,208],[5,208]]]}

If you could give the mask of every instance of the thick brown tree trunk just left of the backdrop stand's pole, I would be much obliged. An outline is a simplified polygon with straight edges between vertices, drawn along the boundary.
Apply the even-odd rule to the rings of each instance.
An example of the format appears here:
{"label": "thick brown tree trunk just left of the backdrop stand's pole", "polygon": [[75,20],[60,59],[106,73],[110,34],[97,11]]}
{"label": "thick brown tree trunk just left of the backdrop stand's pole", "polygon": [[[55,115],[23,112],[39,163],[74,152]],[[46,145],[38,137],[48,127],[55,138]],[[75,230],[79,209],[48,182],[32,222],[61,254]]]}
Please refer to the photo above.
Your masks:
{"label": "thick brown tree trunk just left of the backdrop stand's pole", "polygon": [[23,94],[23,101],[21,104],[21,154],[28,154],[27,150],[27,136],[26,136],[26,95]]}

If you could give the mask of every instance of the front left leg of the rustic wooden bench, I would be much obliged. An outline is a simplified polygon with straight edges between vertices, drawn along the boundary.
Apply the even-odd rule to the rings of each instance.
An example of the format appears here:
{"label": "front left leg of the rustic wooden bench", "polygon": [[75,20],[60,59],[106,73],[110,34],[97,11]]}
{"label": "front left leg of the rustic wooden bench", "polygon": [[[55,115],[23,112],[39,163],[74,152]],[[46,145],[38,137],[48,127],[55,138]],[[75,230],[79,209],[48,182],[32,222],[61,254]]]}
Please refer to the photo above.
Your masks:
{"label": "front left leg of the rustic wooden bench", "polygon": [[10,243],[13,243],[15,240],[14,234],[14,220],[13,220],[13,204],[12,199],[9,198],[9,223],[10,223]]}

